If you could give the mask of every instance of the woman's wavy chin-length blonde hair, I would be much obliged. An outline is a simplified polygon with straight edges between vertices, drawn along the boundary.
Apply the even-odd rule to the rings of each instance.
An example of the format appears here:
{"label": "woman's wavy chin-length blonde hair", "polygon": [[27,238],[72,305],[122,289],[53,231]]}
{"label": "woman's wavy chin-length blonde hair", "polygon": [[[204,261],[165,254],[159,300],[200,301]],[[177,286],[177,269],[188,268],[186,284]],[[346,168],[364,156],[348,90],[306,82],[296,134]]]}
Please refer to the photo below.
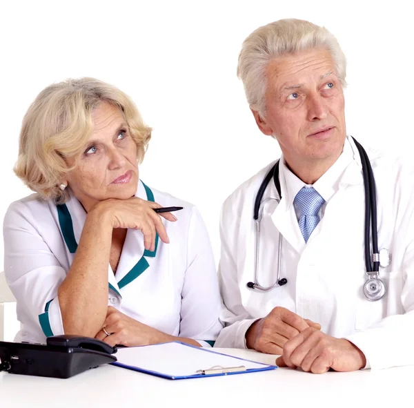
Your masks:
{"label": "woman's wavy chin-length blonde hair", "polygon": [[61,179],[73,170],[65,157],[77,157],[92,132],[92,111],[102,102],[121,110],[137,144],[138,162],[144,158],[151,128],[132,100],[121,90],[95,78],[67,79],[43,89],[23,118],[19,158],[14,173],[44,199],[66,202]]}

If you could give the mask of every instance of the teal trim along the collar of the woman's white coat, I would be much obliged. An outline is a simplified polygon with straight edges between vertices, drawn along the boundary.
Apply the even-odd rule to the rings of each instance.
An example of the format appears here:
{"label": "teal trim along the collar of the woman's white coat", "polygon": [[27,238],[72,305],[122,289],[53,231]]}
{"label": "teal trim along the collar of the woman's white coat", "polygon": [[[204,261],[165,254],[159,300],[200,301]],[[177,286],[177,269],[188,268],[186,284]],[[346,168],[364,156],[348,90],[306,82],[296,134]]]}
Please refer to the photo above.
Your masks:
{"label": "teal trim along the collar of the woman's white coat", "polygon": [[[154,194],[152,193],[151,189],[148,186],[146,186],[146,184],[144,184],[142,181],[141,183],[143,184],[145,188],[147,200],[150,202],[155,202]],[[68,246],[69,252],[75,253],[77,250],[78,244],[75,239],[75,233],[73,232],[72,217],[70,215],[70,212],[66,204],[57,205],[57,215],[59,218],[59,225],[62,231],[63,240],[65,240],[66,246]],[[146,269],[148,269],[150,265],[148,264],[148,261],[146,260],[145,257],[154,258],[155,255],[157,255],[158,240],[159,240],[159,236],[157,234],[155,236],[154,251],[149,251],[148,249],[144,251],[144,255],[142,255],[141,259],[137,262],[137,264],[135,264],[135,266],[124,276],[124,278],[122,278],[118,282],[119,289],[123,288],[128,283],[138,278],[139,275],[141,275],[141,273],[143,273]],[[110,283],[109,283],[109,288],[112,289],[112,291],[115,291],[120,295],[119,291],[117,291],[117,289],[114,286],[112,286],[112,284]]]}

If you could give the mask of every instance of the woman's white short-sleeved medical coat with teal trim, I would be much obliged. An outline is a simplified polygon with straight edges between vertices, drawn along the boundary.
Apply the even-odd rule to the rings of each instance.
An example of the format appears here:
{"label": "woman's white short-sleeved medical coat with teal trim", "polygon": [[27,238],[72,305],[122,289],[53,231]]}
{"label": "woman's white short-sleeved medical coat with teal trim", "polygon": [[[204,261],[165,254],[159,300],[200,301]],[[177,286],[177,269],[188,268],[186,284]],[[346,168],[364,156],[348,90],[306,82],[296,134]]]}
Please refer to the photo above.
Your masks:
{"label": "woman's white short-sleeved medical coat with teal trim", "polygon": [[[136,197],[147,200],[147,193],[140,181]],[[128,230],[116,275],[108,264],[108,305],[164,333],[209,347],[205,340],[214,341],[222,325],[206,227],[195,206],[160,191],[152,193],[161,206],[184,210],[176,213],[177,222],[163,219],[170,244],[158,240],[155,253],[144,253],[141,231]],[[53,202],[30,195],[12,203],[6,213],[6,280],[23,324],[16,341],[45,342],[46,336],[63,333],[57,289],[72,264],[86,220],[75,197],[66,208],[70,215],[63,211],[59,220]]]}

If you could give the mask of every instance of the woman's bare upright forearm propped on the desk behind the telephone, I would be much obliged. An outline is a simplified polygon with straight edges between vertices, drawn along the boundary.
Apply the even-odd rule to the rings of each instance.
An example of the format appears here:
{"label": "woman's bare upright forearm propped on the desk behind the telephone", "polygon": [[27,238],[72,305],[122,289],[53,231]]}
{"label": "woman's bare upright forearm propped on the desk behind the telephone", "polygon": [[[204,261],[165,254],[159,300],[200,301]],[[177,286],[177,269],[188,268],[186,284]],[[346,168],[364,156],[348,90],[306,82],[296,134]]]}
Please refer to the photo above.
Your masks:
{"label": "woman's bare upright forearm propped on the desk behind the telephone", "polygon": [[103,214],[86,219],[75,258],[58,290],[63,329],[94,337],[108,309],[108,262],[112,226]]}

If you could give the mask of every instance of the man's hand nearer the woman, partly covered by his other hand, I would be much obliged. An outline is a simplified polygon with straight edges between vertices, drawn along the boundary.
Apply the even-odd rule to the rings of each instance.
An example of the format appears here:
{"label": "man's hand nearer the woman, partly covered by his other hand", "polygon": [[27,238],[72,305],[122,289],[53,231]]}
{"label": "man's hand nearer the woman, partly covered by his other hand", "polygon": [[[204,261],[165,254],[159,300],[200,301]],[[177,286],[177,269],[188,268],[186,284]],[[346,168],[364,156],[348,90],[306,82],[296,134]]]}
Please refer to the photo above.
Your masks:
{"label": "man's hand nearer the woman, partly covered by his other hand", "polygon": [[266,318],[257,320],[249,327],[246,344],[249,349],[262,353],[282,354],[286,342],[309,327],[321,329],[319,323],[303,319],[284,307],[275,307]]}

